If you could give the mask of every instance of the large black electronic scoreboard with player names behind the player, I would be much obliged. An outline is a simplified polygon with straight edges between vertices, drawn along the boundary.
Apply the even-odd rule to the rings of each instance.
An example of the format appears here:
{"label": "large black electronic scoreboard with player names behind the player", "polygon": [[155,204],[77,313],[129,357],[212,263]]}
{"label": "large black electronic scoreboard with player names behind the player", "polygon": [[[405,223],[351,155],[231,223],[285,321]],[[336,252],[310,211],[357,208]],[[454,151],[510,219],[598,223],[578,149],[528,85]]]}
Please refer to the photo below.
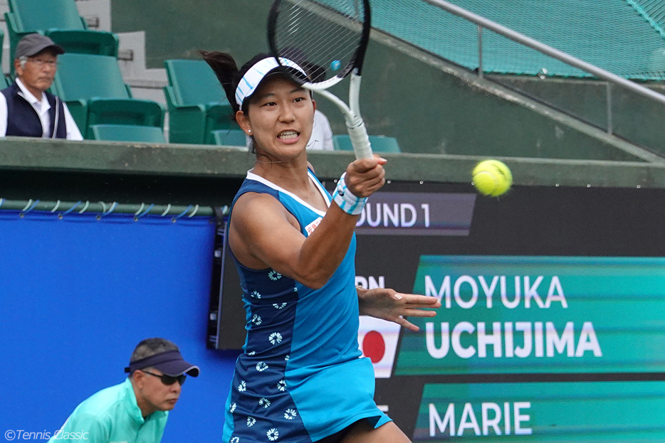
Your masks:
{"label": "large black electronic scoreboard with player names behind the player", "polygon": [[[414,442],[665,441],[664,208],[639,188],[384,186],[356,283],[442,306],[418,332],[361,317],[379,407]],[[225,275],[219,330],[242,329]]]}

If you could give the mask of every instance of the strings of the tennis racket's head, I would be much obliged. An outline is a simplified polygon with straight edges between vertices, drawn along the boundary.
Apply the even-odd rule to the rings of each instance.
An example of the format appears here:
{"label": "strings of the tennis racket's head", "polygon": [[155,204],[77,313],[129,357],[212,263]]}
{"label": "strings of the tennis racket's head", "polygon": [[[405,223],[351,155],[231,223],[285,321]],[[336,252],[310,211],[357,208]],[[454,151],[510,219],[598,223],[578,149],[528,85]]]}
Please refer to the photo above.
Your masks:
{"label": "strings of the tennis racket's head", "polygon": [[364,14],[357,0],[282,1],[275,28],[277,55],[346,75],[362,41]]}

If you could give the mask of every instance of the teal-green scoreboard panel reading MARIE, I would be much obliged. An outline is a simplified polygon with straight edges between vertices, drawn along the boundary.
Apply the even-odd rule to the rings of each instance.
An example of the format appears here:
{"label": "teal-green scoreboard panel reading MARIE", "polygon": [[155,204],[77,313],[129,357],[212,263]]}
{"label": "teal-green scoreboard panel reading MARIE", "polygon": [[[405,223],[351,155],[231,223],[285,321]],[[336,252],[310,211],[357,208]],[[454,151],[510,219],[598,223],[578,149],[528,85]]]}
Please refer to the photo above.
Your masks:
{"label": "teal-green scoreboard panel reading MARIE", "polygon": [[663,442],[665,382],[425,385],[415,442]]}

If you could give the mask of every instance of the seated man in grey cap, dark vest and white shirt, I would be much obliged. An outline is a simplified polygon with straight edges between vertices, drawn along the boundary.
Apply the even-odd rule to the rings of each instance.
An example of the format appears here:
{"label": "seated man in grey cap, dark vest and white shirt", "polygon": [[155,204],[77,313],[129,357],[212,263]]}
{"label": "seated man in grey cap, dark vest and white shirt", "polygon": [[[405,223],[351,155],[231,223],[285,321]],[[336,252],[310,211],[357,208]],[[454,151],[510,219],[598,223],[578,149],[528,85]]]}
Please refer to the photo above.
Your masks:
{"label": "seated man in grey cap, dark vest and white shirt", "polygon": [[58,55],[51,38],[28,34],[16,46],[16,80],[0,94],[0,137],[83,140],[67,105],[46,90],[56,76]]}

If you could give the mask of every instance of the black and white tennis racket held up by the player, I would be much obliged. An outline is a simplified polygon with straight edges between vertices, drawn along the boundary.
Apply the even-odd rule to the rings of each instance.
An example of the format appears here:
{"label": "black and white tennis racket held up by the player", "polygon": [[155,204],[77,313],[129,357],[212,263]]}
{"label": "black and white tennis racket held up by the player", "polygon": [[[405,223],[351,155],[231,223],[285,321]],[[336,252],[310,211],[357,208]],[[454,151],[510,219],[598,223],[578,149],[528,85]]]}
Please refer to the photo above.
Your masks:
{"label": "black and white tennis racket held up by the player", "polygon": [[[279,63],[293,60],[310,81],[295,82],[331,100],[344,114],[357,159],[372,157],[360,117],[360,72],[370,41],[369,0],[275,0],[268,16],[268,45]],[[325,78],[325,72],[332,75]],[[350,75],[349,105],[328,91]]]}

